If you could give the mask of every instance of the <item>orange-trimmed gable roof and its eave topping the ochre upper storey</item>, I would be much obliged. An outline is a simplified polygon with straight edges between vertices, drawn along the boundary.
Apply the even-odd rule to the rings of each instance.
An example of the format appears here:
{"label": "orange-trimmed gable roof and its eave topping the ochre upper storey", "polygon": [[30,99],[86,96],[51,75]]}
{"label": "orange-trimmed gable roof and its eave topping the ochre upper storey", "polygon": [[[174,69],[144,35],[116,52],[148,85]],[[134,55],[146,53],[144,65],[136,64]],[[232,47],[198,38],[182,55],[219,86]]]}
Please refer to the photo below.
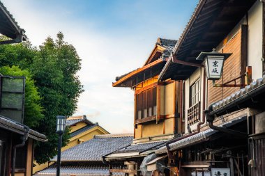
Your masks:
{"label": "orange-trimmed gable roof and its eave topping the ochre upper storey", "polygon": [[173,51],[176,40],[158,38],[156,45],[143,67],[132,70],[126,74],[116,77],[116,82],[112,83],[113,87],[130,87],[150,79],[160,74],[164,67],[169,54]]}

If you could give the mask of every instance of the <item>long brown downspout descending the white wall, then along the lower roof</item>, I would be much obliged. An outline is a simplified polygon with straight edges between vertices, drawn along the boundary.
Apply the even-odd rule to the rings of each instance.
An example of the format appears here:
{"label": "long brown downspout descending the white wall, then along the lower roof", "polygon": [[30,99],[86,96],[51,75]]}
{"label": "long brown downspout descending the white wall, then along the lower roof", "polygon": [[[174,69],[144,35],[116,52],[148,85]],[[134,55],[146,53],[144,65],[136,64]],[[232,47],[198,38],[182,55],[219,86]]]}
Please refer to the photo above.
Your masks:
{"label": "long brown downspout descending the white wall, then along the lower roof", "polygon": [[[204,72],[204,78],[203,78],[203,95],[202,95],[202,97],[203,97],[202,109],[205,109],[205,102],[206,102],[206,97],[205,97],[205,91],[206,91],[205,79],[206,79],[206,74]],[[183,138],[188,138],[190,136],[193,136],[195,134],[198,134],[200,132],[201,125],[203,125],[204,123],[205,123],[205,112],[202,111],[202,121],[197,124],[197,131],[196,132],[194,132],[192,134],[188,134],[188,135],[182,136],[180,138],[173,139],[171,141],[167,141],[166,147],[167,147],[167,155],[168,155],[168,157],[169,158],[172,157],[172,156],[170,156],[171,155],[171,152],[169,151],[170,150],[169,144],[175,143],[176,141],[180,141]]]}

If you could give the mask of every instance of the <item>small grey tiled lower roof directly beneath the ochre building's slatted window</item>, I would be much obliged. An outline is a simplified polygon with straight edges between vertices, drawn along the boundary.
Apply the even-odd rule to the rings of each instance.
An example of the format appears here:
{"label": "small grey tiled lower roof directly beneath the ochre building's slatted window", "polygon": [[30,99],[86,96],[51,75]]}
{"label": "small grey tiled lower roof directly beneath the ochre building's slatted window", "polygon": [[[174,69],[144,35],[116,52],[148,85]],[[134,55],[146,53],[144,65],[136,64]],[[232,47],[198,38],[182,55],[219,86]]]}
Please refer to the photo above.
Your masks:
{"label": "small grey tiled lower roof directly beneath the ochre building's slatted window", "polygon": [[114,153],[126,153],[126,152],[143,152],[144,150],[156,150],[161,147],[160,145],[166,143],[166,141],[156,141],[151,143],[137,143],[128,147],[123,147],[121,150],[117,150]]}

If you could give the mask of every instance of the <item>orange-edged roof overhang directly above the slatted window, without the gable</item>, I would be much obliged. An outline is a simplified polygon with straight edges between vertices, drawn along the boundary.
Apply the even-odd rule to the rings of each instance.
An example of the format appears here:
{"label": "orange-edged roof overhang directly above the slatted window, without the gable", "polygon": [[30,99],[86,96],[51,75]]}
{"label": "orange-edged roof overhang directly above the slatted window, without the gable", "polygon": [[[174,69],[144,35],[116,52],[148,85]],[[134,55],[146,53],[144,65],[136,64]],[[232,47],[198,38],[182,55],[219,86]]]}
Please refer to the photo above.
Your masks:
{"label": "orange-edged roof overhang directly above the slatted window, without the gable", "polygon": [[134,70],[122,77],[115,83],[112,83],[113,87],[129,87],[132,88],[136,86],[138,83],[145,81],[146,79],[150,79],[158,74],[160,74],[162,68],[164,67],[167,59],[159,58],[156,61],[153,61],[144,67],[141,67],[137,70]]}

